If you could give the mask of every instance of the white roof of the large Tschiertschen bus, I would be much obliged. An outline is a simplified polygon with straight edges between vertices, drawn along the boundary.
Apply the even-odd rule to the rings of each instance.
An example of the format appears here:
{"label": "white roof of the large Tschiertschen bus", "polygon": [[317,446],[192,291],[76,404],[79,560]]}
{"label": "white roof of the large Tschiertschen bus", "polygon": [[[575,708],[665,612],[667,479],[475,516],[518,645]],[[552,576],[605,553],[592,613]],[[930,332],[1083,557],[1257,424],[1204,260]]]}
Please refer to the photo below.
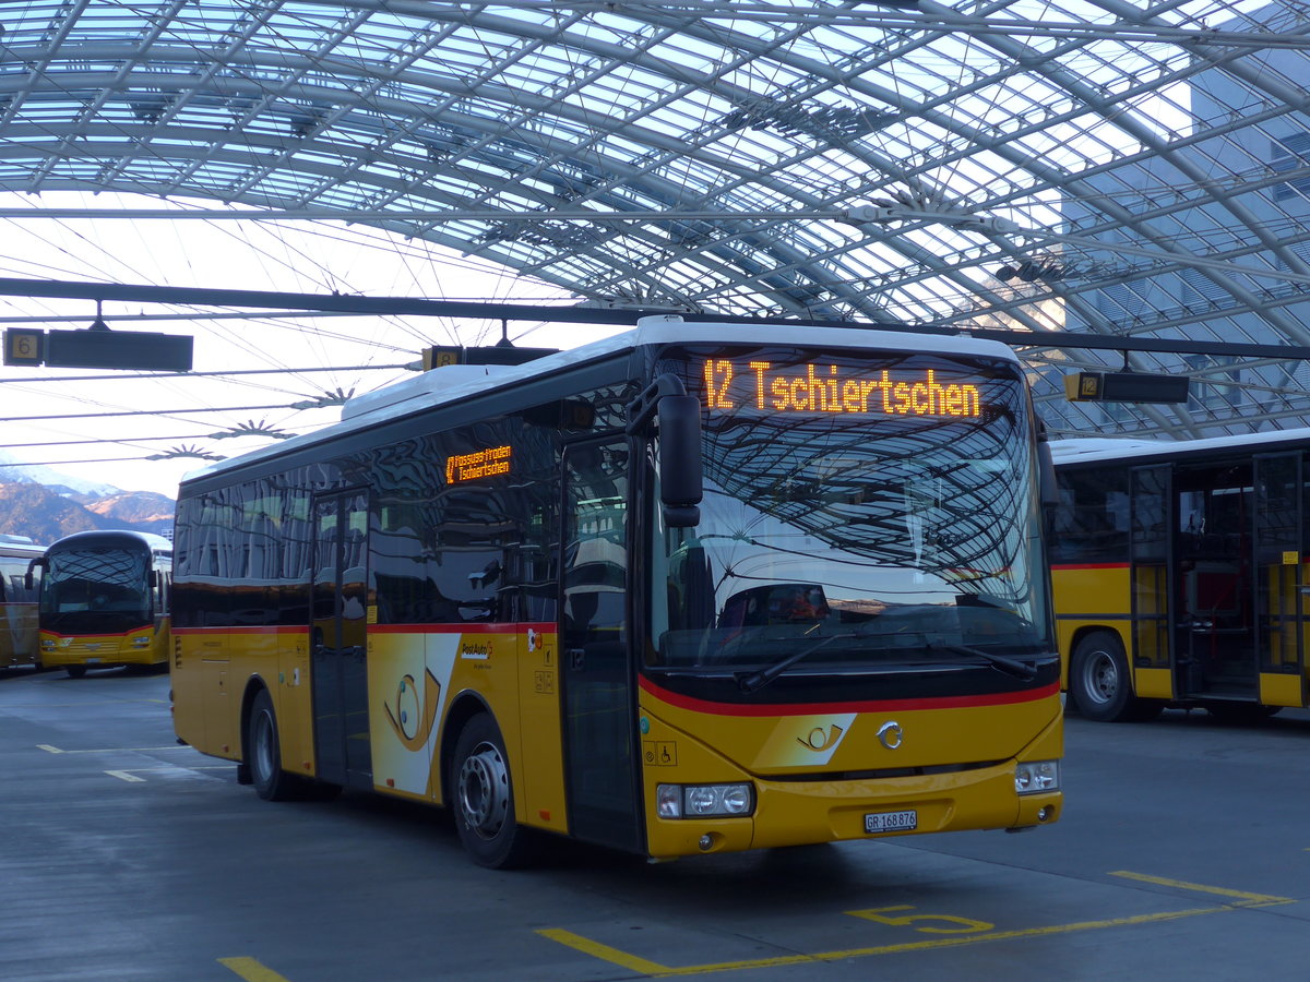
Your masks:
{"label": "white roof of the large Tschiertschen bus", "polygon": [[794,323],[738,323],[690,321],[676,314],[643,317],[637,327],[604,340],[528,361],[521,365],[447,365],[423,372],[394,385],[364,393],[342,407],[342,422],[313,433],[283,440],[250,453],[207,465],[189,473],[183,483],[211,474],[309,446],[335,436],[384,423],[398,416],[508,389],[531,378],[567,368],[600,361],[648,344],[803,344],[815,348],[871,348],[883,351],[922,351],[947,355],[992,357],[1018,364],[1007,346],[980,338],[951,334],[916,334],[867,327],[798,327]]}

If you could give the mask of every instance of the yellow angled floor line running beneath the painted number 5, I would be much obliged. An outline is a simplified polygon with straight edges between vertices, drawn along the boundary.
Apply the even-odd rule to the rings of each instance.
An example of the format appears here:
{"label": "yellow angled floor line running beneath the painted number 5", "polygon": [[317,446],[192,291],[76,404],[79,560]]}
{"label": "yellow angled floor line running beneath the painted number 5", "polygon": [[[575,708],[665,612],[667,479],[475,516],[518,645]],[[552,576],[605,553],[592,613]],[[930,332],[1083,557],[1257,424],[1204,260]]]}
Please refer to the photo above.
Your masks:
{"label": "yellow angled floor line running beneath the painted number 5", "polygon": [[899,955],[903,952],[931,951],[934,948],[959,948],[965,944],[979,944],[980,941],[1005,941],[1015,937],[1038,937],[1044,935],[1072,934],[1074,931],[1099,931],[1108,927],[1129,927],[1134,924],[1151,924],[1165,920],[1180,920],[1183,918],[1200,917],[1203,914],[1220,914],[1234,910],[1224,905],[1218,907],[1193,907],[1192,910],[1166,910],[1159,914],[1137,914],[1127,918],[1110,918],[1106,920],[1081,920],[1073,924],[1052,924],[1049,927],[1026,927],[1014,931],[990,931],[980,935],[962,935],[956,937],[939,937],[930,941],[903,941],[901,944],[884,944],[871,948],[849,948],[837,952],[816,952],[814,955],[782,955],[773,958],[752,958],[749,961],[723,961],[709,965],[685,965],[672,968],[659,962],[647,961],[635,955],[610,948],[607,944],[592,941],[582,935],[558,928],[538,930],[537,934],[574,948],[584,955],[591,955],[603,961],[609,961],[625,969],[641,972],[646,975],[703,975],[715,972],[739,972],[741,969],[774,968],[778,965],[802,965],[825,961],[841,961],[845,958],[866,958],[874,955]]}

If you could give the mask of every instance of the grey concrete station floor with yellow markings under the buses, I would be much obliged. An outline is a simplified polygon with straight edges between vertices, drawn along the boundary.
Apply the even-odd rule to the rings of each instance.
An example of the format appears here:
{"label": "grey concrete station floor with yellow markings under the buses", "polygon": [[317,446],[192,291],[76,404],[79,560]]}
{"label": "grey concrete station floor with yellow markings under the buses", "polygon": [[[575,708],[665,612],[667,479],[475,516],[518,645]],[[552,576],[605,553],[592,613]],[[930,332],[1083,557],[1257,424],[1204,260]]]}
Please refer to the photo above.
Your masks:
{"label": "grey concrete station floor with yellow markings under the buses", "polygon": [[441,812],[270,804],[168,677],[0,673],[0,979],[1247,979],[1310,962],[1310,714],[1070,716],[1062,820],[474,867]]}

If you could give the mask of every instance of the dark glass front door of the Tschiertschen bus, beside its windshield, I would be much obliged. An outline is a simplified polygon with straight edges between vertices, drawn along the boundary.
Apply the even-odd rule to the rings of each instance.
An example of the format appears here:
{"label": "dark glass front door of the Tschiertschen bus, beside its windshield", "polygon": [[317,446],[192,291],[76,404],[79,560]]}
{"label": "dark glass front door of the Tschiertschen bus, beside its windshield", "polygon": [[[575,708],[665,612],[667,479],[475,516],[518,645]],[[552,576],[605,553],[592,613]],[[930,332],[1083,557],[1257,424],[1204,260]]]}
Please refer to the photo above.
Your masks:
{"label": "dark glass front door of the Tschiertschen bus, beside its windshield", "polygon": [[626,439],[566,448],[559,636],[569,829],[643,852],[627,625]]}

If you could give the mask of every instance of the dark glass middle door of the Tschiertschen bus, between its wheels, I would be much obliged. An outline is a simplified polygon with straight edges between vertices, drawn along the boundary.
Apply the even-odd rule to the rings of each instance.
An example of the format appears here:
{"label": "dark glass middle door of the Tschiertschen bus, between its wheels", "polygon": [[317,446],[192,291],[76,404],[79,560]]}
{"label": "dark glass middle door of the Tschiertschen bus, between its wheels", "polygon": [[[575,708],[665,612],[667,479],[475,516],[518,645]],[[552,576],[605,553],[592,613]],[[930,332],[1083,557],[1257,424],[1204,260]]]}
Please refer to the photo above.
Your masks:
{"label": "dark glass middle door of the Tschiertschen bus, between its wheels", "polygon": [[368,741],[368,494],[314,499],[309,638],[316,776],[372,788]]}

